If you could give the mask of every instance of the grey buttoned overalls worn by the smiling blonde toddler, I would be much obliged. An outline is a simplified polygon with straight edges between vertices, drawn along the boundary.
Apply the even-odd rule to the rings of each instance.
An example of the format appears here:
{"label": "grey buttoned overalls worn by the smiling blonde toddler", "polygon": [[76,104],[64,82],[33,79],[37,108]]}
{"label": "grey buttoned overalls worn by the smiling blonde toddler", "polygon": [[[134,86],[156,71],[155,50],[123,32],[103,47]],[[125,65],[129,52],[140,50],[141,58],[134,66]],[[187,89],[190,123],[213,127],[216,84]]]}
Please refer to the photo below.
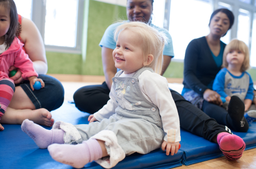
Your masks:
{"label": "grey buttoned overalls worn by the smiling blonde toddler", "polygon": [[[145,70],[154,72],[151,68],[146,67],[137,70],[133,77],[119,77],[123,71],[117,72],[112,79],[116,102],[118,103],[116,113],[101,122],[75,125],[74,127],[78,130],[81,138],[78,136],[77,140],[65,139],[65,143],[70,144],[74,141],[81,143],[83,140],[88,140],[91,137],[95,138],[95,136],[98,136],[96,139],[105,140],[102,137],[108,137],[111,133],[114,133],[117,144],[125,155],[135,152],[147,154],[160,148],[165,133],[162,129],[159,109],[143,96],[138,83],[138,76]],[[63,125],[59,128],[63,129]],[[72,132],[66,132],[65,137],[75,138]],[[105,145],[111,161],[111,156],[120,153],[118,152],[120,150],[115,152],[118,149],[115,143],[105,143]],[[113,147],[116,147],[116,149]]]}

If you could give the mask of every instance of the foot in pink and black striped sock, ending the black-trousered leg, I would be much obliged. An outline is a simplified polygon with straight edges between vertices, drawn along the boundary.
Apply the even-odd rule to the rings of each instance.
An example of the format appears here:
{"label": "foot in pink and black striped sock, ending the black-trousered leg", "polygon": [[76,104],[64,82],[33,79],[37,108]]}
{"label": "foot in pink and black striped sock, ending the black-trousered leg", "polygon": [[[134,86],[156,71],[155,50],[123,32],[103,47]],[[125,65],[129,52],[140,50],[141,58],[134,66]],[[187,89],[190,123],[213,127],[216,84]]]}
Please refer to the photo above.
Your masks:
{"label": "foot in pink and black striped sock, ending the black-trousered leg", "polygon": [[217,141],[222,153],[228,160],[235,161],[242,157],[245,149],[245,143],[241,137],[227,132],[222,132],[217,136]]}

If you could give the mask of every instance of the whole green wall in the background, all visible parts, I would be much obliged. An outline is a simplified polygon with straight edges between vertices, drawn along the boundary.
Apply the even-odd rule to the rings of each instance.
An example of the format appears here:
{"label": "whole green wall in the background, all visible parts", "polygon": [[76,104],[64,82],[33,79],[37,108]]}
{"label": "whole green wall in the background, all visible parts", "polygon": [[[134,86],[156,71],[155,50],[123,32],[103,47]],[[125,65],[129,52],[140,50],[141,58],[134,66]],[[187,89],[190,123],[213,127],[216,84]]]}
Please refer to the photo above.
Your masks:
{"label": "whole green wall in the background, all visible parts", "polygon": [[[46,52],[48,73],[56,74],[82,74],[104,75],[101,62],[101,48],[99,42],[106,28],[118,19],[127,19],[125,7],[88,0],[84,9],[84,25],[88,27],[86,41],[86,54],[71,54],[59,52]],[[87,6],[89,5],[89,7]],[[88,24],[86,24],[88,22]],[[86,32],[86,31],[84,31]],[[82,59],[85,58],[85,59]],[[164,73],[164,77],[183,78],[183,63],[171,62]],[[256,81],[256,69],[248,71]]]}

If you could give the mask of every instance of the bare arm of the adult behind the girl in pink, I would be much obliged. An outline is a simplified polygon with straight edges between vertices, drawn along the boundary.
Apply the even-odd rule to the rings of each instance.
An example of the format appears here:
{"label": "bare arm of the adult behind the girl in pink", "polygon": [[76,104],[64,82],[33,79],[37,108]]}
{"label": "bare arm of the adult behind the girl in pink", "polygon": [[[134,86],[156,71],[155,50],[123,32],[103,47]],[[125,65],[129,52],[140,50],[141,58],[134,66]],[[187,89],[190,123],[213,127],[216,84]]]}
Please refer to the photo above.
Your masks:
{"label": "bare arm of the adult behind the girl in pink", "polygon": [[24,47],[33,62],[35,71],[38,74],[46,74],[48,70],[45,45],[40,32],[33,21],[22,18],[22,32],[20,38],[24,42]]}

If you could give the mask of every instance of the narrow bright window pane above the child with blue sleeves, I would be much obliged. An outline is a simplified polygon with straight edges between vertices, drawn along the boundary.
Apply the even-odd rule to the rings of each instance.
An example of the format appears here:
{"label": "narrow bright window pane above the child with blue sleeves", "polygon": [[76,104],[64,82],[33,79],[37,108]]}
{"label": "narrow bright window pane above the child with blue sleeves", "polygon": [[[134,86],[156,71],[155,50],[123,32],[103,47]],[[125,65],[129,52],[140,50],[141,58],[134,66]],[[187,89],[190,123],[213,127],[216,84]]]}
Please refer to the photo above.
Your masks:
{"label": "narrow bright window pane above the child with blue sleeves", "polygon": [[250,37],[250,12],[244,9],[239,9],[238,15],[238,34],[237,38],[249,46]]}

